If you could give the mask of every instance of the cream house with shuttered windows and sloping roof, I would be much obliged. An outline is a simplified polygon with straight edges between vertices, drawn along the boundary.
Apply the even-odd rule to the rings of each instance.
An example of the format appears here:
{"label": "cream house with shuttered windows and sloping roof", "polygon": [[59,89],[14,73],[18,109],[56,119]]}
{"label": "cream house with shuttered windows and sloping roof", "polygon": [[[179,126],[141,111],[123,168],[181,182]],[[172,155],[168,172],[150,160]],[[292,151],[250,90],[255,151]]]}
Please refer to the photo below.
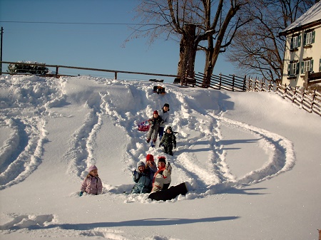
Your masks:
{"label": "cream house with shuttered windows and sloping roof", "polygon": [[302,86],[305,73],[321,72],[321,1],[280,33],[286,36],[282,84]]}

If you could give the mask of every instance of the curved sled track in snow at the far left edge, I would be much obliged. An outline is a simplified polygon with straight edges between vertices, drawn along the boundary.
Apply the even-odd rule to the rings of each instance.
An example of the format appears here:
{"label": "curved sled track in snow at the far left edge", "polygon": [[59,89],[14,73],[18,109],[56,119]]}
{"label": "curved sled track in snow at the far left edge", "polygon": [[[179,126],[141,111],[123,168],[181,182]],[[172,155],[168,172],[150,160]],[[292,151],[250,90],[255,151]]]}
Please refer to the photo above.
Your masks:
{"label": "curved sled track in snow at the far left edge", "polygon": [[0,189],[23,181],[41,164],[46,142],[45,121],[39,118],[6,119],[13,133],[0,149]]}

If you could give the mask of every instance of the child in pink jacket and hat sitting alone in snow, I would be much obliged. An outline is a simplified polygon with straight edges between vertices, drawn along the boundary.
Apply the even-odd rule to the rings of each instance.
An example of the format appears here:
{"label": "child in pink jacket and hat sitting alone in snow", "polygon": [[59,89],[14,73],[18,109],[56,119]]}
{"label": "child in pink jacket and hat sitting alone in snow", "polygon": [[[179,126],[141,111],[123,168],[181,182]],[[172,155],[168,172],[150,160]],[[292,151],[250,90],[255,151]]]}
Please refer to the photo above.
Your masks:
{"label": "child in pink jacket and hat sitting alone in snow", "polygon": [[84,192],[93,195],[101,194],[103,192],[103,183],[98,177],[97,167],[95,165],[89,167],[88,172],[86,179],[84,179],[83,184],[81,184],[79,196],[82,196]]}

